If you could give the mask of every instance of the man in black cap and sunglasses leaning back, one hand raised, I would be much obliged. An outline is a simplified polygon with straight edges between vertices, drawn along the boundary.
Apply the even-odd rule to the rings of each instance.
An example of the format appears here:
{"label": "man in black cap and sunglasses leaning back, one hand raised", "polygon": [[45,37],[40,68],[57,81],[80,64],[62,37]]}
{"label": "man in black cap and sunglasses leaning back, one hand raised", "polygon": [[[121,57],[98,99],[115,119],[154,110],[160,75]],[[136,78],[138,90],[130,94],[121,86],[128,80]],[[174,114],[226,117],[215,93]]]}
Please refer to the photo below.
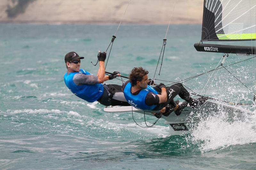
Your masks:
{"label": "man in black cap and sunglasses leaning back, one hand raised", "polygon": [[129,106],[124,98],[122,86],[120,85],[103,85],[106,80],[112,80],[120,76],[118,72],[113,75],[105,76],[104,62],[106,52],[99,51],[99,70],[97,76],[86,70],[80,69],[81,59],[76,52],[69,52],[65,55],[65,63],[68,71],[64,75],[64,81],[68,89],[77,97],[88,102],[99,101],[105,106]]}

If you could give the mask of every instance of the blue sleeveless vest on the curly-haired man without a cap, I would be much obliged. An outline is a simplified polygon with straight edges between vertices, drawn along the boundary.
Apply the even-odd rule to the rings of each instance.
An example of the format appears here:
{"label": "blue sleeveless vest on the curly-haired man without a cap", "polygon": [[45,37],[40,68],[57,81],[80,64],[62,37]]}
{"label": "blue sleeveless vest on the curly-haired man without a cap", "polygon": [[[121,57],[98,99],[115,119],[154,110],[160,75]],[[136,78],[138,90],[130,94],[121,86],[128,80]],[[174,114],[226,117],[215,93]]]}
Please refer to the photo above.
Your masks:
{"label": "blue sleeveless vest on the curly-haired man without a cap", "polygon": [[130,105],[142,110],[153,110],[156,107],[156,105],[148,106],[145,103],[145,98],[148,92],[158,94],[154,88],[148,85],[147,88],[141,89],[139,94],[133,95],[131,93],[131,87],[132,85],[130,82],[127,83],[124,87],[124,97]]}

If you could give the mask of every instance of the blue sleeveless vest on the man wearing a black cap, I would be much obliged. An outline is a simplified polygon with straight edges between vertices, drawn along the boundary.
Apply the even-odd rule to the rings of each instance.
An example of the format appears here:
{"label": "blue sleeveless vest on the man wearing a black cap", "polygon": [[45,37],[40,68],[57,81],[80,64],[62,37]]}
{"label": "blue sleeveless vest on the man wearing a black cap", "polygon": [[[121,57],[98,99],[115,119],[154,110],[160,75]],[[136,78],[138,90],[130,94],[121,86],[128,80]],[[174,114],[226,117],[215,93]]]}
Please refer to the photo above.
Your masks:
{"label": "blue sleeveless vest on the man wearing a black cap", "polygon": [[103,94],[103,85],[101,83],[94,85],[76,85],[73,82],[73,77],[77,73],[83,73],[85,75],[91,74],[83,69],[80,69],[79,72],[70,72],[68,75],[66,72],[64,75],[64,81],[68,89],[77,97],[80,97],[88,102],[98,100]]}

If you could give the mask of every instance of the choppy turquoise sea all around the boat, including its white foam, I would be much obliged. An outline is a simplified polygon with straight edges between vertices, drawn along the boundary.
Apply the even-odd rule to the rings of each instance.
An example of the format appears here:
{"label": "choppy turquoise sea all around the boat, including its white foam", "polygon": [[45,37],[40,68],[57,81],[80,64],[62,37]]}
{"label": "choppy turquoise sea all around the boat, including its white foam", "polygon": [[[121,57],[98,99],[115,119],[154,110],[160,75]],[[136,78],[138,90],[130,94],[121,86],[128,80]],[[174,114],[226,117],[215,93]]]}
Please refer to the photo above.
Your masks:
{"label": "choppy turquoise sea all around the boat, including its white foam", "polygon": [[[116,29],[117,25],[0,25],[1,169],[256,169],[252,105],[241,107],[251,113],[243,121],[230,122],[225,113],[216,113],[190,134],[169,136],[163,119],[152,128],[140,128],[131,112],[106,113],[98,102],[73,95],[63,81],[65,54],[75,51],[84,56],[81,68],[97,74],[98,65],[91,61],[96,63],[98,50],[107,49]],[[133,67],[142,66],[153,78],[166,29],[166,25],[121,25],[106,71],[128,76]],[[162,56],[155,76],[170,82],[156,83],[167,85],[219,65],[223,54],[197,52],[193,47],[200,36],[200,25],[170,26],[161,73]],[[223,66],[250,57],[229,55]],[[254,58],[227,67],[253,92],[255,63]],[[220,69],[184,85],[189,92],[252,104],[253,93],[236,78]],[[122,85],[122,79],[106,83]],[[144,115],[133,117],[146,127]],[[146,116],[148,125],[155,121]]]}

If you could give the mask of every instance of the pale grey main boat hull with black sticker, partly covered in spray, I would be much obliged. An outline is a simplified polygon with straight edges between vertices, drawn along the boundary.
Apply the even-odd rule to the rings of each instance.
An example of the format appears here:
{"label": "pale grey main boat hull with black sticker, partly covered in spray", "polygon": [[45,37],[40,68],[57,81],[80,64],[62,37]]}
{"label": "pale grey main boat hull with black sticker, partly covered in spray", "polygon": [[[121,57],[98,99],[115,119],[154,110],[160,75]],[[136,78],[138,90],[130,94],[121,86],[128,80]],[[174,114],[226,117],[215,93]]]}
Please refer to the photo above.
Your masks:
{"label": "pale grey main boat hull with black sticker, partly covered in spray", "polygon": [[198,108],[185,107],[180,116],[172,113],[163,118],[166,120],[164,123],[169,124],[170,135],[182,135],[196,128],[199,122],[220,114],[225,115],[227,122],[234,122],[235,120],[244,121],[252,112],[236,106],[206,101]]}

